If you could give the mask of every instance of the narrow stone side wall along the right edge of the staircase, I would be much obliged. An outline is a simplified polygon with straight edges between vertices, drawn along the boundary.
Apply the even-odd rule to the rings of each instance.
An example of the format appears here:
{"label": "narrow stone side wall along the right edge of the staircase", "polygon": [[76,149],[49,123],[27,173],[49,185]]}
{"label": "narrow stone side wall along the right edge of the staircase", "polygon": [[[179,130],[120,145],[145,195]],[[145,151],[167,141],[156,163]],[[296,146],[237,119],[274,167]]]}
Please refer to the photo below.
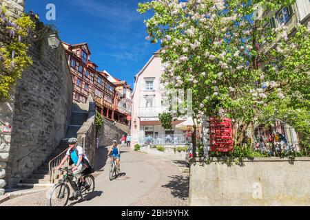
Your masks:
{"label": "narrow stone side wall along the right edge of the staircase", "polygon": [[88,97],[89,103],[88,119],[83,123],[81,129],[77,132],[78,140],[83,140],[79,145],[83,146],[90,164],[94,167],[95,151],[96,151],[96,107],[92,97]]}

